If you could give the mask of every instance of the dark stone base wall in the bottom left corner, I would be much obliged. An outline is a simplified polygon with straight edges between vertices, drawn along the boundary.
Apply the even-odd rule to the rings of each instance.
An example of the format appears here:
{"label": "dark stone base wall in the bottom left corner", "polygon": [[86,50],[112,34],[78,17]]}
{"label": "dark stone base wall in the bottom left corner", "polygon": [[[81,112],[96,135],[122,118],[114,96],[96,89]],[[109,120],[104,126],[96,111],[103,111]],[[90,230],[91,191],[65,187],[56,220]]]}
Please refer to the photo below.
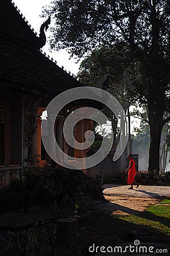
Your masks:
{"label": "dark stone base wall in the bottom left corner", "polygon": [[17,227],[1,225],[0,255],[51,256],[56,230],[53,218]]}

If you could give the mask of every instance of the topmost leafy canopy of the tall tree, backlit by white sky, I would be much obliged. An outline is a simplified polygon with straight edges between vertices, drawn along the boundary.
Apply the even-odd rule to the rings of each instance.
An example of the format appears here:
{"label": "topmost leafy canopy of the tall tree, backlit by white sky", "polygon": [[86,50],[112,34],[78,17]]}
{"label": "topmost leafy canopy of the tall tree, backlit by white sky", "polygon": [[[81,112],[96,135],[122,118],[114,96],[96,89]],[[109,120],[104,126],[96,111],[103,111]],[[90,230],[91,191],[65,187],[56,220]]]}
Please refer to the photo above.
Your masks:
{"label": "topmost leafy canopy of the tall tree, backlit by white sky", "polygon": [[152,51],[159,44],[165,55],[169,9],[168,0],[56,0],[44,7],[42,16],[55,20],[52,48],[69,48],[77,56],[120,41],[126,41],[134,52]]}

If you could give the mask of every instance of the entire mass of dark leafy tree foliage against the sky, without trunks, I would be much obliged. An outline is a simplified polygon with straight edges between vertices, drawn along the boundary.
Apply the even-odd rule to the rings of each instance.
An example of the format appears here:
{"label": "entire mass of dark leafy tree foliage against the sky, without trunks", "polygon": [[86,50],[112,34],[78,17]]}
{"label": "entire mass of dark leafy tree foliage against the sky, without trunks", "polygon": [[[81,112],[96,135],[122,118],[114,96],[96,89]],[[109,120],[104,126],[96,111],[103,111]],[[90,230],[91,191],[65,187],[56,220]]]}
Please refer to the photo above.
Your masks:
{"label": "entire mass of dark leafy tree foliage against the sky, without trunks", "polygon": [[82,71],[92,71],[85,73],[91,81],[109,75],[114,84],[124,81],[142,103],[159,94],[168,110],[169,14],[168,0],[55,0],[42,16],[55,22],[52,48],[78,57],[92,53],[81,64]]}

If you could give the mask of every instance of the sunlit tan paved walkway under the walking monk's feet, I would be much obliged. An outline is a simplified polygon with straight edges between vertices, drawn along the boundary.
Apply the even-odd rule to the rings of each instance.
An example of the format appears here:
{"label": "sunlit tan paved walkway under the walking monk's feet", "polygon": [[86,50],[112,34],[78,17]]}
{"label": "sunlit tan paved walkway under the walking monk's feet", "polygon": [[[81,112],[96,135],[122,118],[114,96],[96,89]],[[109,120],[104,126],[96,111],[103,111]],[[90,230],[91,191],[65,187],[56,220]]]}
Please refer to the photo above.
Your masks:
{"label": "sunlit tan paved walkway under the walking monk's feet", "polygon": [[138,214],[148,205],[159,203],[163,197],[170,198],[170,187],[142,186],[134,190],[129,185],[104,185],[104,203],[99,205],[108,214]]}

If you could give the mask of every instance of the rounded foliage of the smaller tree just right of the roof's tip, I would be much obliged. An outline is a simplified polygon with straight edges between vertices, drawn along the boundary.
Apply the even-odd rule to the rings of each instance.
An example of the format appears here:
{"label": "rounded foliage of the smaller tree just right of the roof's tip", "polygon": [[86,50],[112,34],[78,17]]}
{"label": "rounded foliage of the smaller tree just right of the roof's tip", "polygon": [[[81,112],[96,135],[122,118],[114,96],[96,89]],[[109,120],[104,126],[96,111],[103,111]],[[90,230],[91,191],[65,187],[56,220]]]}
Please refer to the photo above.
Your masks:
{"label": "rounded foliage of the smaller tree just right of the roof's tip", "polygon": [[95,86],[98,81],[107,78],[108,91],[121,104],[128,101],[139,105],[147,102],[147,86],[144,86],[142,72],[141,61],[131,61],[130,47],[121,42],[93,51],[82,61],[78,78],[90,86]]}

